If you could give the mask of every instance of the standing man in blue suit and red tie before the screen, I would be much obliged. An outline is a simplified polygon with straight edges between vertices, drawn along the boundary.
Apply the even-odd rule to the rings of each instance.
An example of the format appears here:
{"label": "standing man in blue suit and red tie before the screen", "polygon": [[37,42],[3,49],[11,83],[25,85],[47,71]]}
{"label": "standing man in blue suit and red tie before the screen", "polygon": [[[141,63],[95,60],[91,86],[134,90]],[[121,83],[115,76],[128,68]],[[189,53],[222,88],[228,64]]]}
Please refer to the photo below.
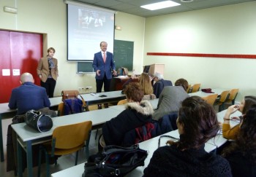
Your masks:
{"label": "standing man in blue suit and red tie before the screen", "polygon": [[[101,93],[104,84],[104,91],[109,92],[112,79],[111,69],[113,75],[116,76],[116,65],[113,60],[113,53],[107,52],[108,43],[100,42],[99,46],[101,51],[94,54],[94,62],[92,63],[92,67],[96,71],[96,91]],[[105,106],[108,107],[108,104]],[[98,109],[101,109],[101,105],[98,105]]]}

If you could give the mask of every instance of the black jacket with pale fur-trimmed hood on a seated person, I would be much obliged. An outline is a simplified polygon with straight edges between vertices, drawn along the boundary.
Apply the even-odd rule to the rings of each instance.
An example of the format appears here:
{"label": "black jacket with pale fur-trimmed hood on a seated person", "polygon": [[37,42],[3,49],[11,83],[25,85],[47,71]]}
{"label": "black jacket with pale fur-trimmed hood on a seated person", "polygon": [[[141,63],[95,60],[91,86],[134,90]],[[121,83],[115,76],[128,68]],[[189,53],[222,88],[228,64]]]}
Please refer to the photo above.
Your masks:
{"label": "black jacket with pale fur-trimmed hood on a seated person", "polygon": [[124,111],[103,125],[102,133],[106,145],[120,146],[125,133],[151,122],[153,112],[148,101],[141,101],[140,104],[127,103]]}

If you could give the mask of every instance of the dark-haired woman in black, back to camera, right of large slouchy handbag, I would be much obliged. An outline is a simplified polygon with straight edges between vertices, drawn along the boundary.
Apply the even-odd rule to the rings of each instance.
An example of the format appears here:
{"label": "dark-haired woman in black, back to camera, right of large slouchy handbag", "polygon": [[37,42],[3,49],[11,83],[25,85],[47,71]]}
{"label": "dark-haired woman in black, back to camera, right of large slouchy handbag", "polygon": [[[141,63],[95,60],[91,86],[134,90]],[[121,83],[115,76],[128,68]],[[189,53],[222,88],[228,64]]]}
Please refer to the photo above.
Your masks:
{"label": "dark-haired woman in black, back to camera, right of large slouchy handbag", "polygon": [[213,106],[198,96],[182,102],[176,121],[180,139],[157,149],[144,170],[148,176],[231,176],[225,158],[205,151],[206,141],[217,135],[219,123]]}

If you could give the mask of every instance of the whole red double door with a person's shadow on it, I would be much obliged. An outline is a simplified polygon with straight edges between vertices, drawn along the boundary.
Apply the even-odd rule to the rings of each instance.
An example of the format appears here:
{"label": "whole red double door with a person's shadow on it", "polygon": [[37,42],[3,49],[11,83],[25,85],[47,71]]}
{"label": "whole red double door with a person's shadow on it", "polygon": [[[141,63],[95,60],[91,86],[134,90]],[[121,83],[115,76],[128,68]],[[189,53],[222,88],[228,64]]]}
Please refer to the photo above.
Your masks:
{"label": "whole red double door with a person's shadow on it", "polygon": [[6,103],[12,89],[20,85],[20,76],[13,76],[12,69],[19,69],[20,74],[31,73],[39,85],[37,63],[42,57],[42,34],[0,31],[0,39],[0,68],[10,68],[11,75],[0,76],[0,93],[4,93],[0,94],[0,103]]}

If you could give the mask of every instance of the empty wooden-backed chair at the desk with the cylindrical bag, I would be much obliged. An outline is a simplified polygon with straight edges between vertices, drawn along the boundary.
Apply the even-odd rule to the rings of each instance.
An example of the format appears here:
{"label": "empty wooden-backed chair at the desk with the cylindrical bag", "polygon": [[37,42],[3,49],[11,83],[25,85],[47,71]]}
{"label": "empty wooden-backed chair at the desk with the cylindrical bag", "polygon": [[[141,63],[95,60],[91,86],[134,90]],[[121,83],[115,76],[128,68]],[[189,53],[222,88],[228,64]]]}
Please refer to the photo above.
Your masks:
{"label": "empty wooden-backed chair at the desk with the cylindrical bag", "polygon": [[[72,154],[76,152],[75,165],[78,164],[78,151],[86,146],[86,155],[89,157],[89,141],[91,137],[91,121],[78,124],[63,125],[53,130],[52,140],[43,143],[39,149],[39,164],[37,176],[40,176],[42,152],[45,152],[47,176],[50,176],[49,158],[55,155]],[[57,162],[55,162],[57,164]]]}

